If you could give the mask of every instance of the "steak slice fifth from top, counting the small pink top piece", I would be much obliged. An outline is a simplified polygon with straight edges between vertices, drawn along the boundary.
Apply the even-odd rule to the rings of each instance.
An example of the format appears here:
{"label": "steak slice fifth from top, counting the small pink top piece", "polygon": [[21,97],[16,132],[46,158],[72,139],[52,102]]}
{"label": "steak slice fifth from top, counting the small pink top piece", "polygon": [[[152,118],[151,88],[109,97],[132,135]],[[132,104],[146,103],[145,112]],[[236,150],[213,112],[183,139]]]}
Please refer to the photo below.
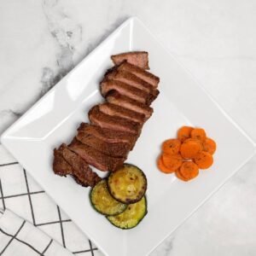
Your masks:
{"label": "steak slice fifth from top, counting the small pink top piece", "polygon": [[153,113],[153,108],[136,102],[126,96],[122,96],[117,91],[110,91],[106,96],[106,100],[119,107],[128,108],[137,113],[143,113],[146,116],[146,119],[148,119]]}

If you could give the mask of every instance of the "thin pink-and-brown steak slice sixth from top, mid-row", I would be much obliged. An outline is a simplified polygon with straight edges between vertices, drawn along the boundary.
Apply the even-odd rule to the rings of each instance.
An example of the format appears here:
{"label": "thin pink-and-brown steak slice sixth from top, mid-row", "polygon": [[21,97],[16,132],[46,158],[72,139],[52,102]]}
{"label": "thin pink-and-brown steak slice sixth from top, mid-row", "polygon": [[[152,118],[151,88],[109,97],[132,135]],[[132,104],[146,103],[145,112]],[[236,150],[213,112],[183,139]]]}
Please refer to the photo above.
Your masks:
{"label": "thin pink-and-brown steak slice sixth from top, mid-row", "polygon": [[140,125],[143,125],[143,123],[146,120],[146,116],[143,113],[137,113],[128,108],[123,108],[109,102],[99,105],[99,108],[102,113],[106,113],[113,116],[119,116],[124,119],[130,119],[134,122],[139,123]]}

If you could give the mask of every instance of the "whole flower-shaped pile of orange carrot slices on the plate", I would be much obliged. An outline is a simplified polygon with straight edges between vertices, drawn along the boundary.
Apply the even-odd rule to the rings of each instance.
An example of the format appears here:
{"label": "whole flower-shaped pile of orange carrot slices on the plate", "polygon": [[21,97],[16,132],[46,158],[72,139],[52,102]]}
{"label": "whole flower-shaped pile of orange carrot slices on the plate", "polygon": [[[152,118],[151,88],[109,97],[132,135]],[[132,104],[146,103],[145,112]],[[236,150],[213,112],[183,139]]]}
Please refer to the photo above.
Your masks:
{"label": "whole flower-shaped pile of orange carrot slices on the plate", "polygon": [[177,131],[177,139],[162,143],[157,166],[161,172],[175,172],[178,178],[189,181],[198,176],[199,169],[212,166],[216,147],[204,129],[183,126]]}

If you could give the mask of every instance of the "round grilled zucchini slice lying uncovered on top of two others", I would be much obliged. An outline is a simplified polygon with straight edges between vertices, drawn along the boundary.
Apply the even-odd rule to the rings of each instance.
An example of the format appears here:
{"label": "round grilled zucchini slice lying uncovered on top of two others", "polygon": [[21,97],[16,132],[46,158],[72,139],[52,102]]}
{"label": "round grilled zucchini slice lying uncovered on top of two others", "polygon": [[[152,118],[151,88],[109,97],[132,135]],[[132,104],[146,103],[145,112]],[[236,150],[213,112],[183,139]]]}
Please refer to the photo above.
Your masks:
{"label": "round grilled zucchini slice lying uncovered on top of two others", "polygon": [[114,199],[125,204],[140,201],[147,189],[147,178],[137,166],[125,164],[108,177],[108,190]]}

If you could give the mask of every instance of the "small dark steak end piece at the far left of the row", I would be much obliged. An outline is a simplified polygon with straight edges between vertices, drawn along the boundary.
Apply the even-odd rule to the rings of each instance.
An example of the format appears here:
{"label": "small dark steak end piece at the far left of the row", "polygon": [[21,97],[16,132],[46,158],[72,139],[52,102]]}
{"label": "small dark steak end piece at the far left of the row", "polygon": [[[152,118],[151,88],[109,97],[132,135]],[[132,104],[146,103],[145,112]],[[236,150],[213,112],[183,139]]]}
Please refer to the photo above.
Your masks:
{"label": "small dark steak end piece at the far left of the row", "polygon": [[[61,148],[61,147],[60,147]],[[60,148],[54,149],[54,161],[53,161],[53,171],[55,174],[60,176],[67,176],[73,174],[73,168],[67,161],[63,158]]]}

